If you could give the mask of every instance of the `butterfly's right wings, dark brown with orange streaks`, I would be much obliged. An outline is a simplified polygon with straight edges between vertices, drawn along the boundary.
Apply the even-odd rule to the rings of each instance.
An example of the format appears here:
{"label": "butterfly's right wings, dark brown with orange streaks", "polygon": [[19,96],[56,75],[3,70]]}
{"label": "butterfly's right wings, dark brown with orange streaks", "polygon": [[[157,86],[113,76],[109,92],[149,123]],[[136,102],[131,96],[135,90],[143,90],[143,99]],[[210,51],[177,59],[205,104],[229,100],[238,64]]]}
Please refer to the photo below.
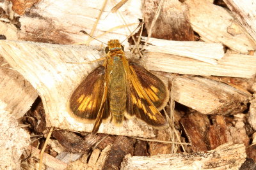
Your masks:
{"label": "butterfly's right wings, dark brown with orange streaks", "polygon": [[[153,127],[166,126],[166,120],[157,109],[168,100],[166,99],[168,91],[163,82],[154,74],[133,62],[129,62],[129,70],[131,73],[128,78],[126,117],[129,118],[135,115]],[[160,86],[158,86],[159,83]],[[159,89],[161,87],[164,89]],[[160,99],[161,101],[159,101]]]}

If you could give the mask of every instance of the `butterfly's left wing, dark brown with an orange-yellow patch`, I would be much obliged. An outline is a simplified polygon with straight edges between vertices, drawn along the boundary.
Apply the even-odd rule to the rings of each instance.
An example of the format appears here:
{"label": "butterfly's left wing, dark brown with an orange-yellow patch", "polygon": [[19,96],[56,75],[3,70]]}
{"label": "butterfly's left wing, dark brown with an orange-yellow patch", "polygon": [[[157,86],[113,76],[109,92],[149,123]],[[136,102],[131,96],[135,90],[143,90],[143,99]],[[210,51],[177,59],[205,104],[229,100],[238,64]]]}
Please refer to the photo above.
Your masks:
{"label": "butterfly's left wing, dark brown with an orange-yellow patch", "polygon": [[106,100],[102,101],[105,83],[105,67],[97,67],[81,82],[70,98],[70,109],[81,121],[95,120],[101,108],[102,119],[109,117]]}

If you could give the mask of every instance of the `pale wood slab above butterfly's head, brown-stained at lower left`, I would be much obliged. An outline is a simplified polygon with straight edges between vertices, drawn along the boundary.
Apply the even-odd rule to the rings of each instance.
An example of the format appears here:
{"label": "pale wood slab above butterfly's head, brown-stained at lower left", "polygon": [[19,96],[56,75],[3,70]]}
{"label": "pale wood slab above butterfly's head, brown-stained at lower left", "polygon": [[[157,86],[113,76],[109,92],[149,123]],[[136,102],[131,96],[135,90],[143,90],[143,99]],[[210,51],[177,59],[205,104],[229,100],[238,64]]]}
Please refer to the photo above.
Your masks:
{"label": "pale wood slab above butterfly's head, brown-stained at lower left", "polygon": [[[60,44],[85,43],[88,36],[80,31],[84,30],[90,34],[104,1],[56,0],[54,3],[51,0],[40,1],[20,17],[20,24],[22,25],[20,27],[20,39]],[[112,30],[104,36],[100,36],[101,34],[125,24],[132,24],[129,25],[129,29],[134,31],[139,24],[138,18],[142,18],[140,1],[128,1],[118,10],[118,13],[111,13],[115,4],[113,1],[107,2],[96,31],[92,34],[104,43],[107,43],[109,39],[123,41],[131,32],[127,27],[122,27]],[[125,21],[120,15],[124,16]],[[100,37],[98,38],[98,36]],[[90,43],[90,45],[97,46],[101,44],[95,40]],[[124,45],[127,45],[127,41]]]}

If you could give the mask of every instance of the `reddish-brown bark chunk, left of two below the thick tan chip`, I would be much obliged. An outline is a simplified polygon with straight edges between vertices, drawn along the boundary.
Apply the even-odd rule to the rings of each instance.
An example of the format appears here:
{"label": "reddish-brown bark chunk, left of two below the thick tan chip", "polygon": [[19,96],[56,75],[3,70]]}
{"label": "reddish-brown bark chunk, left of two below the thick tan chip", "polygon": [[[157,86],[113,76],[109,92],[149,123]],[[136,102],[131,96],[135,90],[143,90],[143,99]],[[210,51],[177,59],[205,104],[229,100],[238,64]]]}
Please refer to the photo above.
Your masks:
{"label": "reddish-brown bark chunk, left of two below the thick tan chip", "polygon": [[200,113],[192,113],[188,117],[182,118],[180,123],[192,143],[191,149],[193,152],[207,151],[208,141],[206,135],[210,126],[207,116]]}

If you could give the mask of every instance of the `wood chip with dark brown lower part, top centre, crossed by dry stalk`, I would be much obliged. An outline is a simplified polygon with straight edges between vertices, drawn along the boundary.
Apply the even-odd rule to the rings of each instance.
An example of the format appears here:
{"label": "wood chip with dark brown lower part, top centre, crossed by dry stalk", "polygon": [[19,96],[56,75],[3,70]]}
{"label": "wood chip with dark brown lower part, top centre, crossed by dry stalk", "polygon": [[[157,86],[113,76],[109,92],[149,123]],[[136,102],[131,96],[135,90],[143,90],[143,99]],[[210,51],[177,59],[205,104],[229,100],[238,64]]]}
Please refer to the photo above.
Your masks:
{"label": "wood chip with dark brown lower part, top centre, crossed by dry stalk", "polygon": [[[159,0],[144,0],[143,15],[147,32],[156,15]],[[188,20],[188,8],[178,0],[164,1],[156,24],[152,27],[152,37],[178,41],[193,41],[194,33]]]}

